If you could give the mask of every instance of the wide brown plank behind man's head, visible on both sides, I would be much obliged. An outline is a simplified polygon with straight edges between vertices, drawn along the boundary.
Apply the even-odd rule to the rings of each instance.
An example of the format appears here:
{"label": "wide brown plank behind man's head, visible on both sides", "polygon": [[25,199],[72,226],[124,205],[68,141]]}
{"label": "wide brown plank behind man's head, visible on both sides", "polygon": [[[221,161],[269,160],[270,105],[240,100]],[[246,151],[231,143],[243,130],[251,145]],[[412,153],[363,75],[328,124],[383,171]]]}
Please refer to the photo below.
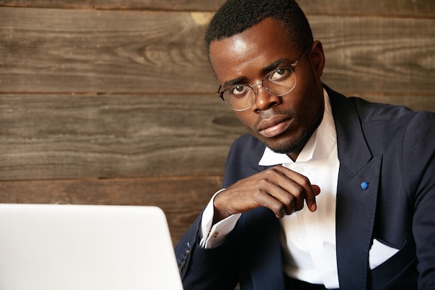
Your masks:
{"label": "wide brown plank behind man's head, visible on both sides", "polygon": [[[0,8],[0,93],[215,92],[190,13]],[[116,19],[116,20],[114,20]],[[309,17],[341,92],[435,92],[435,19]]]}

